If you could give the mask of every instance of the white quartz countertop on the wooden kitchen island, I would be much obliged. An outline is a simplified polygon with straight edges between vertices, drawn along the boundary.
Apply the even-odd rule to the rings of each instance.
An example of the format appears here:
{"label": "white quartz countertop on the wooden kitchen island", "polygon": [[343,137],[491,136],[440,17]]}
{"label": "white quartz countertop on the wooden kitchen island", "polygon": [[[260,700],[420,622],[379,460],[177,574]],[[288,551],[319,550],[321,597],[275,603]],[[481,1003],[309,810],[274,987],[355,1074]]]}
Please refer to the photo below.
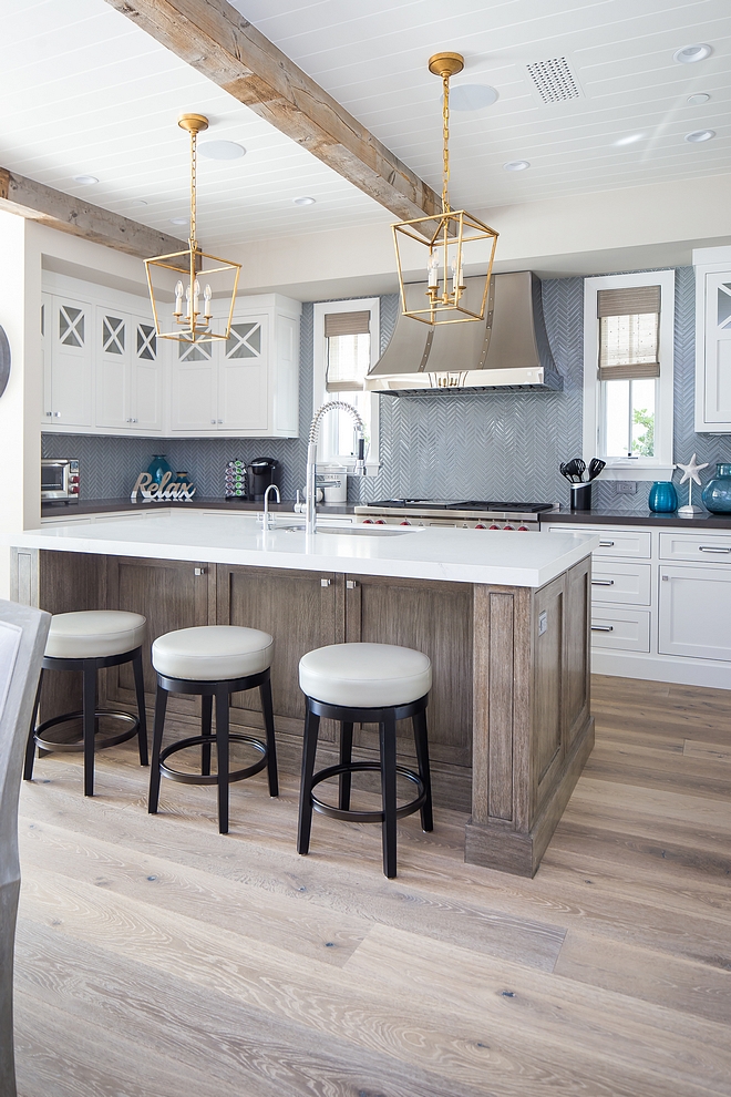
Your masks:
{"label": "white quartz countertop on the wooden kitchen island", "polygon": [[[295,515],[287,524],[297,522]],[[27,530],[6,542],[19,548],[539,587],[588,556],[598,537],[416,526],[308,537],[303,530],[284,529],[281,519],[278,529],[265,532],[245,514],[166,511],[144,521],[121,515]]]}

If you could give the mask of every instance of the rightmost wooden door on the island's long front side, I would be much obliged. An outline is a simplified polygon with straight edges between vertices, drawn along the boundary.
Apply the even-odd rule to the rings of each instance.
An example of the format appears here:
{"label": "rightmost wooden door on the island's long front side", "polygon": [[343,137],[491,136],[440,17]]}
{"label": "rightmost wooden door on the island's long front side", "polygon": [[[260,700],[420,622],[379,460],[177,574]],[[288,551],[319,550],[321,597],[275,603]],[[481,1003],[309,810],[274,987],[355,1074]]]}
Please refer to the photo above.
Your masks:
{"label": "rightmost wooden door on the island's long front side", "polygon": [[[440,763],[472,765],[472,586],[382,576],[346,576],[346,638],[395,644],[432,660],[429,750]],[[399,751],[413,757],[411,720],[399,725]],[[356,742],[378,749],[378,728],[366,725]],[[440,778],[434,775],[435,794]],[[456,796],[456,788],[454,793]],[[461,804],[462,806],[462,804]],[[469,807],[469,801],[467,804]]]}

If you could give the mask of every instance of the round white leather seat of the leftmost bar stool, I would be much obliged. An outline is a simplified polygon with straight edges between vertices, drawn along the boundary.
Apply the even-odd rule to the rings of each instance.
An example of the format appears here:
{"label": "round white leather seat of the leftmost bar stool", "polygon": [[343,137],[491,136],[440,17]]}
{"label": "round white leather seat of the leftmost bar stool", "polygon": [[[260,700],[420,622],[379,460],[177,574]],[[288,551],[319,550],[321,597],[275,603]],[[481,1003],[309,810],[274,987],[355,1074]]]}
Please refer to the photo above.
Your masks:
{"label": "round white leather seat of the leftmost bar stool", "polygon": [[45,642],[53,659],[94,659],[124,655],[145,643],[147,619],[124,609],[56,613]]}

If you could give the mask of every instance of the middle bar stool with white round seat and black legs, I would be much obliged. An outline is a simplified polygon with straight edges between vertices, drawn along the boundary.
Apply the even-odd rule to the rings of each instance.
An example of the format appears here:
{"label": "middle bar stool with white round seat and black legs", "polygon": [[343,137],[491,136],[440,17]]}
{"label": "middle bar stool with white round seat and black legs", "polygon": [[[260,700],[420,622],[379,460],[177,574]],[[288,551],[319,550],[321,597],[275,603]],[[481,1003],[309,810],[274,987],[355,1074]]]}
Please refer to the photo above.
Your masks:
{"label": "middle bar stool with white round seat and black legs", "polygon": [[[267,767],[269,796],[279,796],[277,747],[271,706],[270,667],[274,638],[258,628],[237,625],[199,625],[178,628],[158,636],[152,646],[153,667],[157,671],[153,753],[147,810],[157,813],[159,780],[167,777],[183,785],[218,786],[218,831],[228,833],[228,786],[254,777]],[[266,744],[253,736],[228,729],[228,705],[239,689],[259,687]],[[162,750],[163,728],[168,694],[198,694],[202,697],[200,735],[188,736]],[[213,701],[216,698],[217,772],[210,772],[213,745]],[[251,766],[229,772],[229,742],[246,742],[261,756]],[[200,747],[200,772],[182,772],[166,765],[171,755],[187,747]]]}

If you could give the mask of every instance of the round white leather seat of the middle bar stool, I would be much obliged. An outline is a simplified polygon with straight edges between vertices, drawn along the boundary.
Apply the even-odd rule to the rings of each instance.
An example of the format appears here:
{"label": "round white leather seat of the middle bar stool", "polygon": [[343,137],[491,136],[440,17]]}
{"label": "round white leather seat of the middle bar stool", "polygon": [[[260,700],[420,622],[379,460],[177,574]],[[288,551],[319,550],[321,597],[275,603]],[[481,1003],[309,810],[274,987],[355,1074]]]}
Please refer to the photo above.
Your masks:
{"label": "round white leather seat of the middle bar stool", "polygon": [[239,625],[198,625],[158,636],[152,647],[155,670],[168,678],[224,681],[271,666],[274,637]]}

